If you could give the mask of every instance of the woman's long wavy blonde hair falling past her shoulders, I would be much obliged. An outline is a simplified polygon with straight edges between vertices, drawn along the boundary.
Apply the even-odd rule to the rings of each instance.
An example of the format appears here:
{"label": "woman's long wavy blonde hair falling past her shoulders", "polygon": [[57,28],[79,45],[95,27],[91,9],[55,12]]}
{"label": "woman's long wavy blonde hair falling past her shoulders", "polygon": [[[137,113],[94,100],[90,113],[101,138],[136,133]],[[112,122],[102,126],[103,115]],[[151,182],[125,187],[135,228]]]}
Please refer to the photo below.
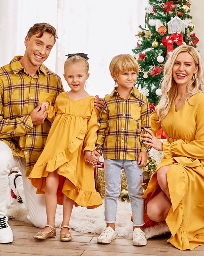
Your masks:
{"label": "woman's long wavy blonde hair falling past her shoulders", "polygon": [[[172,77],[172,68],[174,62],[181,52],[188,52],[194,59],[195,66],[198,67],[198,72],[195,74],[195,79],[192,77],[191,81],[187,84],[187,99],[197,92],[204,92],[204,81],[203,72],[204,67],[201,61],[201,57],[198,51],[189,45],[181,45],[177,47],[171,54],[170,58],[164,65],[164,76],[161,80],[161,100],[157,106],[157,118],[161,122],[165,116],[168,114],[175,97],[178,95],[177,83]],[[190,102],[189,102],[190,103]]]}

